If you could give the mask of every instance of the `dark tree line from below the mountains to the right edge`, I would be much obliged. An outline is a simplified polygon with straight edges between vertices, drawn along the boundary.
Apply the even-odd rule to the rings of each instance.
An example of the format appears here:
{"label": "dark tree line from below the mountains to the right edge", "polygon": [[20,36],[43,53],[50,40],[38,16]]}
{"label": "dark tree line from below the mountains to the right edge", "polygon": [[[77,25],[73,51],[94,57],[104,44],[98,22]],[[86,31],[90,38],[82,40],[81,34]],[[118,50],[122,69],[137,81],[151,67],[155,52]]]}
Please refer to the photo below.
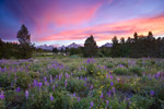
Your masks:
{"label": "dark tree line from below the mountains to the right edge", "polygon": [[113,57],[113,58],[164,58],[164,37],[155,38],[152,32],[148,36],[133,34],[133,37],[120,39],[114,36],[112,39],[113,47],[97,47],[94,37],[91,35],[85,43],[84,47],[61,49],[55,48],[54,52],[65,52],[79,55],[81,57]]}

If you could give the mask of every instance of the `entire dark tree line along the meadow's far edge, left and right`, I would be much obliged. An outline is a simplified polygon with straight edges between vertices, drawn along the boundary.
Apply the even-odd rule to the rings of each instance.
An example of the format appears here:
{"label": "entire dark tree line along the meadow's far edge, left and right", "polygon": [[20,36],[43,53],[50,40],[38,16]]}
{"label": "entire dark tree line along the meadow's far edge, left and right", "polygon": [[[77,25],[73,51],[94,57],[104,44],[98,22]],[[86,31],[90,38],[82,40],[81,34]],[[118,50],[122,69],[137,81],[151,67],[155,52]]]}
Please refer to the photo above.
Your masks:
{"label": "entire dark tree line along the meadow's far edge, left and right", "polygon": [[[0,39],[0,59],[28,59],[33,57],[33,51],[42,52],[43,50],[36,49],[31,43],[31,34],[25,25],[21,26],[17,32],[16,38],[19,43],[4,43]],[[69,56],[78,55],[80,57],[114,57],[114,58],[164,58],[164,37],[155,38],[152,32],[147,36],[133,34],[133,37],[125,39],[121,37],[119,40],[116,36],[112,39],[113,47],[97,47],[93,35],[86,38],[84,47],[66,48],[58,50],[52,49],[55,53],[68,53]]]}

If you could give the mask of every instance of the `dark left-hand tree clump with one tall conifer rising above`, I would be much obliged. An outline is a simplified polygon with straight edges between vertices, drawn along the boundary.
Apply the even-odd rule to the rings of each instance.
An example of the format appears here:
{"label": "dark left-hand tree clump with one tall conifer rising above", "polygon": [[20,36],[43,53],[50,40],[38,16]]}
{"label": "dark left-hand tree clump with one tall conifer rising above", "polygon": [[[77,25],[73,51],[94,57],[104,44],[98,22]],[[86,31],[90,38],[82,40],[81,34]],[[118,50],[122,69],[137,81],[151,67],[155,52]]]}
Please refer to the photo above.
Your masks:
{"label": "dark left-hand tree clump with one tall conifer rising above", "polygon": [[31,35],[25,25],[21,26],[16,36],[17,43],[4,43],[0,39],[0,59],[28,59],[34,51],[34,45],[31,43]]}

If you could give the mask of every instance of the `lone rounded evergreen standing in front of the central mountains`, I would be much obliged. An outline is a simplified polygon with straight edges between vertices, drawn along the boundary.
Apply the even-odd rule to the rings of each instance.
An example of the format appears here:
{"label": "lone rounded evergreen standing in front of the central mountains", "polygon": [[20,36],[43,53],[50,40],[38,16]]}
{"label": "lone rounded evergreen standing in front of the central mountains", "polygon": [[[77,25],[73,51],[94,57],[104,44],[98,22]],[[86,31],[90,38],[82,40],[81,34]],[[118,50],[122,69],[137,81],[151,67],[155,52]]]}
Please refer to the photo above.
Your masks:
{"label": "lone rounded evergreen standing in front of the central mountains", "polygon": [[97,55],[97,45],[94,37],[91,35],[84,43],[84,57],[95,57]]}

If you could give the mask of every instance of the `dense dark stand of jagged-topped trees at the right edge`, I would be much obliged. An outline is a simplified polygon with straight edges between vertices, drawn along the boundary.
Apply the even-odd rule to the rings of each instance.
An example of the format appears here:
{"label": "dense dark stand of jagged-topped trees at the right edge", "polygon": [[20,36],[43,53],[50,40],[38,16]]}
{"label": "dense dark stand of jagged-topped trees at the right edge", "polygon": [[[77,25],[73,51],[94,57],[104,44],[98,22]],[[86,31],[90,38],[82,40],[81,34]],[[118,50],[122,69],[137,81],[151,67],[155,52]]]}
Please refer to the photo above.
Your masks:
{"label": "dense dark stand of jagged-topped trees at the right edge", "polygon": [[124,37],[118,41],[115,36],[113,39],[113,47],[110,49],[112,57],[125,58],[164,58],[164,37],[155,38],[152,32],[147,36],[133,34],[133,37]]}

